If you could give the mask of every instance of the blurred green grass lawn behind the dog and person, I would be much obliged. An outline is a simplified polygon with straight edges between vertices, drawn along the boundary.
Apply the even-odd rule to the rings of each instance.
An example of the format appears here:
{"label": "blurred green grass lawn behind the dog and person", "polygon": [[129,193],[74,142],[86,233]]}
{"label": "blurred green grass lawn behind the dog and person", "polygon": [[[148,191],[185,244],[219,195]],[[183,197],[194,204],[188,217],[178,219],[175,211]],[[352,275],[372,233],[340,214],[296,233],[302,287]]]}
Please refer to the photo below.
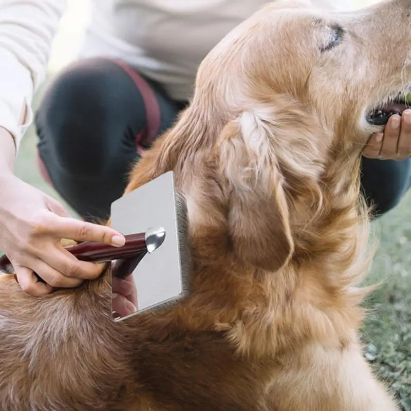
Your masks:
{"label": "blurred green grass lawn behind the dog and person", "polygon": [[[40,176],[35,143],[31,127],[17,157],[16,175],[62,201]],[[411,193],[373,227],[380,231],[380,246],[367,283],[384,284],[365,303],[366,357],[393,388],[403,409],[411,411]]]}

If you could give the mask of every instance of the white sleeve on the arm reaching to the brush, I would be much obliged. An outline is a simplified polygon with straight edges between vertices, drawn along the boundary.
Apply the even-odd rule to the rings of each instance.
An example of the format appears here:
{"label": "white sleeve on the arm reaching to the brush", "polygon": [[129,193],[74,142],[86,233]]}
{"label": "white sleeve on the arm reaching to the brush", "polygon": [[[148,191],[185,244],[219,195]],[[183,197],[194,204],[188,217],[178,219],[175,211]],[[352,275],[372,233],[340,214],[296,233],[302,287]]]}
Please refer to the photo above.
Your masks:
{"label": "white sleeve on the arm reaching to the brush", "polygon": [[11,133],[16,147],[31,123],[32,97],[45,78],[65,9],[66,0],[0,2],[0,126]]}

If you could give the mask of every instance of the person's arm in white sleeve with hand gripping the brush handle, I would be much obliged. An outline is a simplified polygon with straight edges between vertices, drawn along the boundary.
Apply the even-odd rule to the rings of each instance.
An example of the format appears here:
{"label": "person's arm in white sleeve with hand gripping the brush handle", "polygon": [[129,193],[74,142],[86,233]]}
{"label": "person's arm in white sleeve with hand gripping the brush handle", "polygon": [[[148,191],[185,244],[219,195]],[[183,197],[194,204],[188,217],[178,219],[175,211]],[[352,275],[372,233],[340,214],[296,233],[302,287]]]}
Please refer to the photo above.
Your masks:
{"label": "person's arm in white sleeve with hand gripping the brush handle", "polygon": [[[0,2],[0,249],[23,290],[32,295],[100,274],[98,265],[66,252],[61,238],[124,243],[115,230],[69,217],[58,201],[13,174],[18,144],[32,118],[32,96],[44,79],[65,6],[65,0]],[[48,285],[38,282],[34,272]]]}

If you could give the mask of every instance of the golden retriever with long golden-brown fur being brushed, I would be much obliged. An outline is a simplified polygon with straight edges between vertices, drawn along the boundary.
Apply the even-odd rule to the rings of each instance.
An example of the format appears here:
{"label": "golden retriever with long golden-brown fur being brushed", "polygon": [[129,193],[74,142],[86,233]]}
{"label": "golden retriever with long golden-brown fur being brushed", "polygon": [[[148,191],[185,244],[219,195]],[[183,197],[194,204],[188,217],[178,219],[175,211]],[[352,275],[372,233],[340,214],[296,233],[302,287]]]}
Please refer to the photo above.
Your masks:
{"label": "golden retriever with long golden-brown fur being brushed", "polygon": [[359,165],[377,109],[409,90],[410,14],[276,2],[229,33],[127,188],[175,172],[191,293],[116,323],[109,268],[41,298],[3,277],[0,409],[398,409],[359,339]]}

